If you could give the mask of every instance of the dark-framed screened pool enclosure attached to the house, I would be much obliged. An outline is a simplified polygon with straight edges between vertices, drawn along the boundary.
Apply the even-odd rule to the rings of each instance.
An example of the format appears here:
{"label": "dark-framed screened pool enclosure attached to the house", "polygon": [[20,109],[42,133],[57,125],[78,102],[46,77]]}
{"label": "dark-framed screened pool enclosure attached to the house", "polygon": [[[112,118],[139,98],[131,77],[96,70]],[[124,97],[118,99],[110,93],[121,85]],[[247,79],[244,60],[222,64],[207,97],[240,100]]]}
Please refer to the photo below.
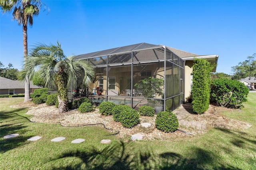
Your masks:
{"label": "dark-framed screened pool enclosure attached to the house", "polygon": [[[173,111],[184,99],[184,61],[164,45],[138,43],[77,55],[76,59],[85,59],[95,68],[96,77],[89,87],[79,82],[73,87],[89,91],[92,102],[112,101],[133,108],[160,104],[163,110]],[[141,80],[149,77],[164,80],[160,87],[163,95],[149,96],[138,88]]]}

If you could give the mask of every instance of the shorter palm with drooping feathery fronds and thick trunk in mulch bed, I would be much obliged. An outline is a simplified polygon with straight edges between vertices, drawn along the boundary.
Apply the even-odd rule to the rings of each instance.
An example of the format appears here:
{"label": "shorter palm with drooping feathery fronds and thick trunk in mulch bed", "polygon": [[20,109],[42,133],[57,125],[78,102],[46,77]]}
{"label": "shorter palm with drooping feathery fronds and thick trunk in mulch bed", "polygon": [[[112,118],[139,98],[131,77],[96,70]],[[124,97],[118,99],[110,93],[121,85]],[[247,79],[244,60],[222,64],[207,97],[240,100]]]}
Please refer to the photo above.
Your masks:
{"label": "shorter palm with drooping feathery fronds and thick trunk in mulch bed", "polygon": [[74,56],[66,57],[60,43],[56,45],[39,44],[35,46],[24,61],[20,79],[26,75],[31,79],[38,71],[46,85],[54,82],[58,88],[59,113],[67,111],[68,84],[76,85],[83,76],[84,85],[90,85],[95,76],[94,69],[85,60],[75,60]]}

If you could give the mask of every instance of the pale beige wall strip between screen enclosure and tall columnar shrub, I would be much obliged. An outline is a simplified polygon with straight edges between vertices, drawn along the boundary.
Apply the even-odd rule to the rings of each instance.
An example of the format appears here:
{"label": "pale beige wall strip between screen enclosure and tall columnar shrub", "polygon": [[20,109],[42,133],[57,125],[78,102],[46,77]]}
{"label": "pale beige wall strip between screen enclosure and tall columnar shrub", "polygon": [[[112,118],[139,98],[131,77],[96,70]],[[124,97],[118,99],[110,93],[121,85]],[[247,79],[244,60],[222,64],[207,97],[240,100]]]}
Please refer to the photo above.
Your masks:
{"label": "pale beige wall strip between screen enclosure and tall columnar shrub", "polygon": [[186,61],[185,67],[184,67],[184,99],[185,102],[190,99],[190,93],[191,93],[191,73],[192,73],[192,66],[194,61]]}

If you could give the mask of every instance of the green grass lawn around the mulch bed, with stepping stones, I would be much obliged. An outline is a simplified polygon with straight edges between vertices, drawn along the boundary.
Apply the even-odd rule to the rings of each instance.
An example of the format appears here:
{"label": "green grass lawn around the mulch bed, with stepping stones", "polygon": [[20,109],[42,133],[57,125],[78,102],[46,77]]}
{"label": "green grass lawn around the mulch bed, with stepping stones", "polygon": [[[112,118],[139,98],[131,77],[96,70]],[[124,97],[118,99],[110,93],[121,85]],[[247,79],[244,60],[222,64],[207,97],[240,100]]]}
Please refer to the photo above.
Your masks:
{"label": "green grass lawn around the mulch bed, with stepping stones", "polygon": [[[223,113],[252,127],[211,128],[207,134],[172,141],[125,142],[101,126],[30,123],[27,109],[9,107],[22,98],[6,100],[0,100],[0,169],[256,169],[256,93],[249,93],[242,111]],[[12,133],[20,136],[3,138]],[[43,137],[27,141],[32,136]],[[66,139],[50,141],[58,136]],[[76,138],[86,140],[72,144]],[[101,144],[102,139],[112,142]]]}

